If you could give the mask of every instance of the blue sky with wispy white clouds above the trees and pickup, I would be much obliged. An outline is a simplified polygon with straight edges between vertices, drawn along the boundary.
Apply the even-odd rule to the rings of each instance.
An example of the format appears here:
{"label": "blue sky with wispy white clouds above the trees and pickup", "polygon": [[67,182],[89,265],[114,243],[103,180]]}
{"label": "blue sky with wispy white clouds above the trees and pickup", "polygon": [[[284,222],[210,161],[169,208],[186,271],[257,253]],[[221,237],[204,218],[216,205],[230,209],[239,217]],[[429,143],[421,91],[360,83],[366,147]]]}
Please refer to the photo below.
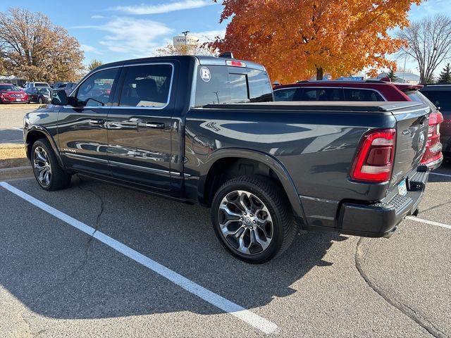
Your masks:
{"label": "blue sky with wispy white clouds above the trees and pickup", "polygon": [[[56,25],[65,27],[85,51],[85,64],[93,58],[104,63],[127,58],[152,56],[172,37],[189,30],[202,41],[226,30],[219,24],[221,0],[75,0],[1,1],[0,11],[9,6],[41,11]],[[6,4],[5,4],[6,2]],[[412,6],[411,20],[443,13],[451,16],[451,0],[428,0]],[[404,58],[399,61],[401,66]],[[407,68],[416,64],[407,61]]]}

